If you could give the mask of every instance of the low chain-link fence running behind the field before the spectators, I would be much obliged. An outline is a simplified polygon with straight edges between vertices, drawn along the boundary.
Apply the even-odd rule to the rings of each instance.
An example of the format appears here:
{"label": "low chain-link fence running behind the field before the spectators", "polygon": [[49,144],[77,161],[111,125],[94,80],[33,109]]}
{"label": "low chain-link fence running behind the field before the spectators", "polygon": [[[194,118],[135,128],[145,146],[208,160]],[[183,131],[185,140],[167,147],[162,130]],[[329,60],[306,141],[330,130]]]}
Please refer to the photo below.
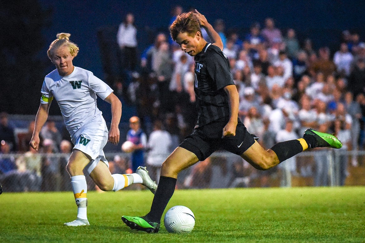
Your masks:
{"label": "low chain-link fence running behind the field before the spectators", "polygon": [[[130,154],[106,157],[112,174],[131,172]],[[66,171],[68,158],[69,154],[1,154],[0,167],[8,168],[0,174],[4,192],[72,190]],[[157,180],[158,167],[146,166],[151,178]],[[88,190],[98,190],[88,176],[87,182]],[[180,189],[354,185],[365,185],[365,151],[306,151],[267,171],[256,170],[237,155],[216,152],[180,172],[177,180]],[[128,189],[136,188],[140,187]]]}

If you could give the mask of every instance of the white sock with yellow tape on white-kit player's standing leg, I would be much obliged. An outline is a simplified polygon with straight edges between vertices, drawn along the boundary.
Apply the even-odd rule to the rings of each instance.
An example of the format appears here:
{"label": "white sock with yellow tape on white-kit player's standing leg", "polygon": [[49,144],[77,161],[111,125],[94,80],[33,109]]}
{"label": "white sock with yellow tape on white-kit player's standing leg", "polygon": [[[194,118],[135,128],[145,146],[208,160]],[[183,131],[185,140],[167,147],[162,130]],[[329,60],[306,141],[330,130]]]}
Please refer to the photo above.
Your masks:
{"label": "white sock with yellow tape on white-kit player's standing leg", "polygon": [[87,191],[86,178],[84,175],[77,175],[71,177],[71,186],[75,202],[77,205],[77,218],[88,219],[87,217]]}

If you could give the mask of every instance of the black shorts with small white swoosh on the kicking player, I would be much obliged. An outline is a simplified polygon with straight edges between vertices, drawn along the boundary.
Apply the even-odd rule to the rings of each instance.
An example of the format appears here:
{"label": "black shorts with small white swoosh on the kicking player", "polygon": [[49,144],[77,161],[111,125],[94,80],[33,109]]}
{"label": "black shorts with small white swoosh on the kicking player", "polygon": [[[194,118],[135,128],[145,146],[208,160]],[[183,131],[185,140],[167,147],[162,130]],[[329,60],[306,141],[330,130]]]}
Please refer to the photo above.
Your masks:
{"label": "black shorts with small white swoosh on the kicking player", "polygon": [[179,147],[194,153],[199,161],[205,160],[217,150],[227,150],[233,154],[242,155],[255,143],[254,135],[247,132],[245,125],[238,121],[236,135],[222,138],[223,127],[226,124],[226,121],[220,121],[198,127]]}

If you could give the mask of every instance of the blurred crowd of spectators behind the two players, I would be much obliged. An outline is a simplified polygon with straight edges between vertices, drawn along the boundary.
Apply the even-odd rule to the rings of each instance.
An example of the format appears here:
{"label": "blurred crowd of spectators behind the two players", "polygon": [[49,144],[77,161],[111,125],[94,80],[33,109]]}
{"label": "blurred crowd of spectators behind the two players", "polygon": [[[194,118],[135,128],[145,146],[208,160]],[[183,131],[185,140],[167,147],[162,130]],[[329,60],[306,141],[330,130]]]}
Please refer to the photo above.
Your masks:
{"label": "blurred crowd of spectators behind the two players", "polygon": [[[130,172],[130,157],[142,151],[142,163],[158,180],[164,159],[193,131],[197,117],[194,59],[174,43],[167,28],[186,10],[177,6],[166,31],[155,33],[154,43],[140,55],[134,15],[128,13],[118,28],[122,74],[108,80],[123,105],[135,107],[138,127],[132,127],[135,122],[130,125],[141,139],[133,141],[138,147],[130,154],[120,150],[120,155],[109,158],[114,173]],[[257,135],[266,149],[277,142],[301,138],[308,127],[335,134],[343,144],[341,150],[353,151],[352,156],[338,157],[338,184],[344,185],[349,166],[364,166],[357,156],[365,145],[364,36],[343,30],[338,49],[331,52],[326,46],[314,49],[315,40],[297,39],[295,28],[278,29],[270,17],[264,23],[252,23],[242,36],[232,29],[226,31],[224,19],[208,21],[223,41],[239,93],[239,117],[247,130]],[[209,42],[204,29],[202,32]],[[24,178],[35,185],[27,190],[70,190],[65,166],[73,146],[54,121],[48,121],[42,129],[42,155],[28,146],[34,122],[21,137],[15,136],[6,113],[0,114],[0,122],[0,181],[27,172]],[[121,138],[120,145],[127,139]],[[215,180],[217,187],[250,186],[253,178],[260,181],[255,185],[272,186],[269,176],[280,175],[284,166],[293,176],[313,177],[312,185],[327,186],[328,149],[315,151],[310,166],[306,166],[305,157],[293,157],[265,172],[255,171],[237,157],[213,156],[182,172],[178,187],[214,187],[212,178],[217,177],[223,178]],[[11,153],[21,156],[4,156]],[[55,153],[61,155],[51,156]],[[281,179],[278,185],[287,184]],[[24,186],[19,187],[19,191],[24,190]]]}

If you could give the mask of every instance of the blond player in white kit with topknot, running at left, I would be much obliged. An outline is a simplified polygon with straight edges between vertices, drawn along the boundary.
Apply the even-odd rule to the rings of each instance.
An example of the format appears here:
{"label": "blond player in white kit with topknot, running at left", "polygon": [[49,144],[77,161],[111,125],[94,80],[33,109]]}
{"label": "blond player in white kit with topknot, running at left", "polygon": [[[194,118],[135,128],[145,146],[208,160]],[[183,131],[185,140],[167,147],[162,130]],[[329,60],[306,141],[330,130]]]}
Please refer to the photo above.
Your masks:
{"label": "blond player in white kit with topknot, running at left", "polygon": [[[74,144],[67,170],[71,176],[78,211],[76,220],[65,225],[87,226],[89,221],[84,168],[87,168],[90,177],[103,191],[118,191],[132,183],[142,183],[154,193],[157,185],[150,179],[145,167],[139,167],[133,174],[111,175],[103,148],[107,141],[113,144],[119,142],[118,124],[122,115],[122,103],[113,94],[113,90],[92,72],[72,64],[78,47],[69,37],[69,33],[57,34],[57,39],[47,51],[57,69],[49,73],[43,81],[41,104],[35,118],[30,145],[38,150],[39,132],[47,120],[51,101],[55,99]],[[97,96],[111,104],[112,121],[109,133],[102,113],[96,106]]]}

